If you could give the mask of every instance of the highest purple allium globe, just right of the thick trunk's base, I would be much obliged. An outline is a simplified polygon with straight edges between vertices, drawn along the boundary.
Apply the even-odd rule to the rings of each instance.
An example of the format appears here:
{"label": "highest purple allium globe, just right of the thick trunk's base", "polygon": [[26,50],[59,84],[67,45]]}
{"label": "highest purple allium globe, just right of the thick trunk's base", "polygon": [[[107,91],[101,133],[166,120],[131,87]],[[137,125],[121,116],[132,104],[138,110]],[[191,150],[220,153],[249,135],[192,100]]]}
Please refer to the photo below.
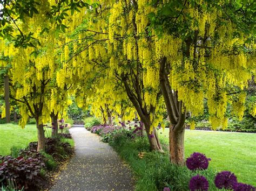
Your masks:
{"label": "highest purple allium globe, just right of the thick trunk's base", "polygon": [[191,171],[197,169],[207,169],[209,165],[209,159],[202,153],[194,152],[186,160],[186,166]]}

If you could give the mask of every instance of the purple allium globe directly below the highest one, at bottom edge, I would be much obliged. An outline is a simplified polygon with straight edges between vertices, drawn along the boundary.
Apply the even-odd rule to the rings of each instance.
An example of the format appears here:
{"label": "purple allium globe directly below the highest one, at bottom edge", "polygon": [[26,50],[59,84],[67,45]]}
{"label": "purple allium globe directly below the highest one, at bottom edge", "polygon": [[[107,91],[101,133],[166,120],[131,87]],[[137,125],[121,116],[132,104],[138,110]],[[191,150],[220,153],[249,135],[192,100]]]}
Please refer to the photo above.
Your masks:
{"label": "purple allium globe directly below the highest one, at bottom edge", "polygon": [[209,183],[207,179],[204,176],[200,176],[199,174],[196,176],[193,176],[190,179],[190,190],[196,191],[196,190],[208,190]]}

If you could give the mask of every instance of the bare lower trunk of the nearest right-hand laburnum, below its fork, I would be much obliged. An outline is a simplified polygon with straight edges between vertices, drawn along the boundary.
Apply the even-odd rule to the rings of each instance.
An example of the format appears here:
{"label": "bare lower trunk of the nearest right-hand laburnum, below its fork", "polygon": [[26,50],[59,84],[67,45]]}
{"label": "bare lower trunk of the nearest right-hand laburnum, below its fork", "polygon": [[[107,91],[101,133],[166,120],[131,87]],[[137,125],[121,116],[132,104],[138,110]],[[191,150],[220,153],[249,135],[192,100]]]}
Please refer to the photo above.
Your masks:
{"label": "bare lower trunk of the nearest right-hand laburnum, below its fork", "polygon": [[172,125],[170,125],[170,128],[169,128],[170,160],[173,164],[185,165],[184,134],[185,134],[185,128],[176,130],[175,128],[173,128]]}

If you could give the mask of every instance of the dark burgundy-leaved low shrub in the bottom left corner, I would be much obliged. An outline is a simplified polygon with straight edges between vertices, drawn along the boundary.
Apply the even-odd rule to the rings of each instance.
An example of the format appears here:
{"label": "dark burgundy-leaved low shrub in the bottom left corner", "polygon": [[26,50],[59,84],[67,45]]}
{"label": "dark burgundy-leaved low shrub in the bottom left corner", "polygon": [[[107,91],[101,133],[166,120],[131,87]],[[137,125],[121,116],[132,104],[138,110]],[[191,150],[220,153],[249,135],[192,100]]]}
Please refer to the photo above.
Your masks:
{"label": "dark burgundy-leaved low shrub in the bottom left corner", "polygon": [[10,155],[0,157],[0,180],[3,185],[8,185],[8,179],[14,179],[17,189],[36,188],[41,181],[40,171],[45,166],[40,158],[18,157]]}

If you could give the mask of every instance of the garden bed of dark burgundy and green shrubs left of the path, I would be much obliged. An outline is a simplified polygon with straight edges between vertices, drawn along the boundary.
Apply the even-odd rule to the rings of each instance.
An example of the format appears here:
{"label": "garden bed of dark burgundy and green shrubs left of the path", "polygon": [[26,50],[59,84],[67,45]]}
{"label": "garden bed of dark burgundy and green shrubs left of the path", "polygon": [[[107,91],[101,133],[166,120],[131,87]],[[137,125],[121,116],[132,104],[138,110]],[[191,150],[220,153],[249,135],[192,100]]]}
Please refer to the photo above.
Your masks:
{"label": "garden bed of dark burgundy and green shrubs left of the path", "polygon": [[45,138],[45,143],[45,152],[37,152],[37,142],[31,142],[16,157],[0,157],[3,190],[45,190],[52,186],[53,179],[70,160],[74,149],[63,138]]}

